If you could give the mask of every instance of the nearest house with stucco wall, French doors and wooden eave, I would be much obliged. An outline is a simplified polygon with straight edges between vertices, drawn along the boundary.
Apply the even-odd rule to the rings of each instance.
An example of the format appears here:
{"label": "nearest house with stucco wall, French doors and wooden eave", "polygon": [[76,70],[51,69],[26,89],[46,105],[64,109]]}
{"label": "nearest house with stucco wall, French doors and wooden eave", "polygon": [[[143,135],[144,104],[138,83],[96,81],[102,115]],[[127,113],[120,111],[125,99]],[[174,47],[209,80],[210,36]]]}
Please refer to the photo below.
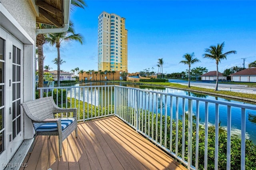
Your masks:
{"label": "nearest house with stucco wall, French doors and wooden eave", "polygon": [[[0,0],[0,170],[33,138],[20,103],[35,99],[36,35],[65,32],[69,14],[70,0]],[[57,28],[36,29],[36,22]]]}

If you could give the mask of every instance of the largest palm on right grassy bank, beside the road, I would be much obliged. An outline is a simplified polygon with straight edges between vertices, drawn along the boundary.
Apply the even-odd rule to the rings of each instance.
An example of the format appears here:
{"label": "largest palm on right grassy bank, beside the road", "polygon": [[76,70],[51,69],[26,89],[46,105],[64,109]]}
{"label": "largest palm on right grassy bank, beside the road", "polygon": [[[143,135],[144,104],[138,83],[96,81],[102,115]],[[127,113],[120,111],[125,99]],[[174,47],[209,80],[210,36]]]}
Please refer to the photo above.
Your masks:
{"label": "largest palm on right grassy bank, beside the road", "polygon": [[215,91],[218,90],[218,79],[219,79],[219,74],[218,74],[218,65],[220,60],[222,59],[227,59],[227,55],[228,54],[236,54],[236,51],[228,51],[226,53],[222,53],[223,52],[223,47],[224,47],[224,42],[221,44],[217,44],[217,46],[212,45],[209,48],[205,49],[205,52],[203,54],[204,58],[209,58],[209,59],[213,59],[216,61],[216,74],[217,74],[217,79],[216,79],[216,86],[215,86]]}

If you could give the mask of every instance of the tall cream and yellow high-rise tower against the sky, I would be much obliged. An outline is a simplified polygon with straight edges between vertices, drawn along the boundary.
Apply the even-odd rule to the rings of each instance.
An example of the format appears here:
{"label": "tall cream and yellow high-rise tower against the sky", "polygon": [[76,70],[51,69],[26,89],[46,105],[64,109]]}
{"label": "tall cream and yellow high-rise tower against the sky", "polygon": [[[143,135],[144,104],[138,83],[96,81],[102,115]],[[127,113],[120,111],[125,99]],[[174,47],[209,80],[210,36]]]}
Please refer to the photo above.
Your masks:
{"label": "tall cream and yellow high-rise tower against the sky", "polygon": [[102,12],[98,17],[98,70],[128,71],[125,18]]}

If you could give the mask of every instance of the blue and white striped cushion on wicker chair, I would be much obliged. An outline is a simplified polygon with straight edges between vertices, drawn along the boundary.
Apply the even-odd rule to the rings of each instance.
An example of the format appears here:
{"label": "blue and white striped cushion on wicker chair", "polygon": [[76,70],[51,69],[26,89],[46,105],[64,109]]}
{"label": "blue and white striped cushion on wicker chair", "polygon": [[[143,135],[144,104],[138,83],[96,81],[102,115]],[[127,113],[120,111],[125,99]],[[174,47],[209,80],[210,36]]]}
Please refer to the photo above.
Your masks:
{"label": "blue and white striped cushion on wicker chair", "polygon": [[[68,125],[70,125],[72,122],[74,122],[75,119],[61,118],[60,121],[61,121],[61,128],[63,130],[64,128],[68,127]],[[58,130],[57,123],[45,123],[44,125],[41,125],[36,129],[36,131],[39,131],[39,132],[55,131],[55,130]]]}

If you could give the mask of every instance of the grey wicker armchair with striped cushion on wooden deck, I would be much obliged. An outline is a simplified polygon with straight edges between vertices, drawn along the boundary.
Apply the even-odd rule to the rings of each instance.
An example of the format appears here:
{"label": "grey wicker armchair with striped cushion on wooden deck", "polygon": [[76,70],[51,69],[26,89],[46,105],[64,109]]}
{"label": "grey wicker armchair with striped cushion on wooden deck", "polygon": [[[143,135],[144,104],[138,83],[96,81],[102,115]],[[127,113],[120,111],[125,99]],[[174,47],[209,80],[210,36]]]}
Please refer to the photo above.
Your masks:
{"label": "grey wicker armchair with striped cushion on wooden deck", "polygon": [[[36,135],[55,135],[59,138],[59,156],[62,156],[62,141],[65,140],[74,130],[77,138],[77,109],[62,109],[58,107],[52,97],[43,97],[40,99],[24,102],[20,104],[25,114],[31,119]],[[63,129],[62,118],[55,118],[55,113],[73,113],[74,120],[70,125]],[[62,120],[62,121],[61,121]],[[53,131],[38,131],[42,125],[54,124],[57,129]],[[56,124],[55,124],[56,123]]]}

